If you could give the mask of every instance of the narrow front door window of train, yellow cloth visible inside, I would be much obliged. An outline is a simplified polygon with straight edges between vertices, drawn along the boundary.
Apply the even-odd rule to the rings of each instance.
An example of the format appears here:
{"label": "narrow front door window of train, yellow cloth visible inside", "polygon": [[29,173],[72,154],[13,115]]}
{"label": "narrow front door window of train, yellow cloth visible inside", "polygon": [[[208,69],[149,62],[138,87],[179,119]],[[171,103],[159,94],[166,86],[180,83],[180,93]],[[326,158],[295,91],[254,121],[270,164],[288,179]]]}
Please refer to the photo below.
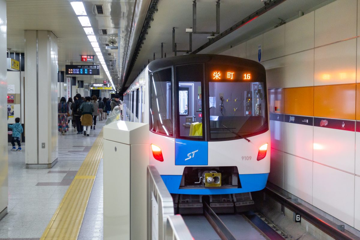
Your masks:
{"label": "narrow front door window of train, yellow cloth visible inside", "polygon": [[176,67],[177,117],[176,138],[205,140],[203,132],[204,65],[186,64]]}

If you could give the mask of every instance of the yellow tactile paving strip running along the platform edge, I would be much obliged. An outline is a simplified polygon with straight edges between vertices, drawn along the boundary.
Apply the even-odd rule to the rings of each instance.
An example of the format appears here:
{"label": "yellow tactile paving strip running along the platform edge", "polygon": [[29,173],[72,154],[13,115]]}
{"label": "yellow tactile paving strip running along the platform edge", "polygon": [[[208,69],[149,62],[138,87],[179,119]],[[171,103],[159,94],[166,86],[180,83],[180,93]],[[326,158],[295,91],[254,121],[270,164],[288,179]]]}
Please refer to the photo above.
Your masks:
{"label": "yellow tactile paving strip running along the platform edge", "polygon": [[76,240],[103,155],[103,131],[81,164],[40,240]]}

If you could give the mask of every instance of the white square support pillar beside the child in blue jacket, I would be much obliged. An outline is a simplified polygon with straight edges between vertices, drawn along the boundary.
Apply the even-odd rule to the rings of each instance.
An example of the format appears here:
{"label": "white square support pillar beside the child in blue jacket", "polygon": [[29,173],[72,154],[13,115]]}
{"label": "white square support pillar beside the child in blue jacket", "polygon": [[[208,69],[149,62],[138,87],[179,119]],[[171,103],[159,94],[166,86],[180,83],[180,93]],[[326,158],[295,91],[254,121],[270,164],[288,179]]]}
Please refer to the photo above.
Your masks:
{"label": "white square support pillar beside the child in blue jacket", "polygon": [[27,168],[51,168],[58,159],[58,44],[51,31],[25,30]]}

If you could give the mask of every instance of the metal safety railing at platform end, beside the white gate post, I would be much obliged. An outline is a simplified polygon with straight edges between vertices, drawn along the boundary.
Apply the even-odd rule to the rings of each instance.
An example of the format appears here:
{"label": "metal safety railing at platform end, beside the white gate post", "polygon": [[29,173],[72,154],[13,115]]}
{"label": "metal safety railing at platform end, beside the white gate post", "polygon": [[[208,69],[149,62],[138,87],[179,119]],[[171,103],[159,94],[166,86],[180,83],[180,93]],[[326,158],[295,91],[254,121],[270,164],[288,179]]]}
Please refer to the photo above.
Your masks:
{"label": "metal safety railing at platform end, beside the white gate post", "polygon": [[147,180],[147,239],[192,240],[183,218],[174,216],[172,197],[154,166],[148,166]]}

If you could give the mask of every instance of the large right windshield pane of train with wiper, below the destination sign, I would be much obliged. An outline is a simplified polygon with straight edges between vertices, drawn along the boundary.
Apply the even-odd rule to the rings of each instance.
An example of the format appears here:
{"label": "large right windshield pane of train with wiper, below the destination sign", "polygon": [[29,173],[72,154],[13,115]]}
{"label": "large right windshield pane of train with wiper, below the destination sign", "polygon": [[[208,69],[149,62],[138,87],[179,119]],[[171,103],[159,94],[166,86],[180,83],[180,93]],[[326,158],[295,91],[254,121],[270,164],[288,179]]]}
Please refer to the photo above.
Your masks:
{"label": "large right windshield pane of train with wiper, below the destination sign", "polygon": [[209,82],[210,139],[237,139],[266,128],[263,82]]}

